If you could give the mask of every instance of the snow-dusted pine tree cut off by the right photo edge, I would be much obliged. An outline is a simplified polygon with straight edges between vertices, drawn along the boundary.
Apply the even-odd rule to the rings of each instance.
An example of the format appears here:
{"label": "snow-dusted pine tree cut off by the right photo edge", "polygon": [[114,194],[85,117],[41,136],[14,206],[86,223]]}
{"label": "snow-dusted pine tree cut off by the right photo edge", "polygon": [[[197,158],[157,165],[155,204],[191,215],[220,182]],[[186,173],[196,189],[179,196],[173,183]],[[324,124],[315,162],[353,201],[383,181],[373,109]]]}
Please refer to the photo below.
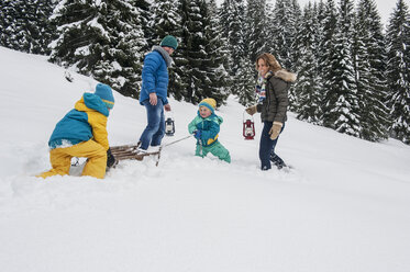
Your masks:
{"label": "snow-dusted pine tree cut off by the right photo edge", "polygon": [[410,15],[398,0],[386,34],[391,136],[410,144]]}

